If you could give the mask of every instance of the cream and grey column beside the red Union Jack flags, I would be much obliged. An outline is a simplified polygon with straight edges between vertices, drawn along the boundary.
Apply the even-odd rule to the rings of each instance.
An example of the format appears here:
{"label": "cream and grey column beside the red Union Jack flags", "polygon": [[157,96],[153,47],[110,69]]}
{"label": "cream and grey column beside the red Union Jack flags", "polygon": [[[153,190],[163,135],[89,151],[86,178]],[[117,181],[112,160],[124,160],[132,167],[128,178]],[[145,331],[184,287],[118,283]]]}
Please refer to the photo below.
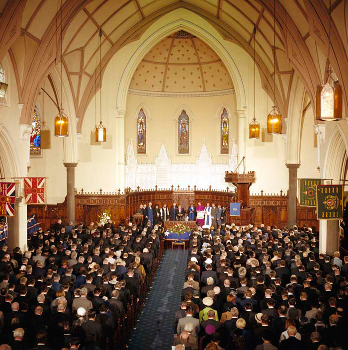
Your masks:
{"label": "cream and grey column beside the red Union Jack flags", "polygon": [[19,247],[22,252],[27,246],[27,208],[23,203],[23,197],[16,197],[14,216],[7,217],[8,223],[8,250]]}

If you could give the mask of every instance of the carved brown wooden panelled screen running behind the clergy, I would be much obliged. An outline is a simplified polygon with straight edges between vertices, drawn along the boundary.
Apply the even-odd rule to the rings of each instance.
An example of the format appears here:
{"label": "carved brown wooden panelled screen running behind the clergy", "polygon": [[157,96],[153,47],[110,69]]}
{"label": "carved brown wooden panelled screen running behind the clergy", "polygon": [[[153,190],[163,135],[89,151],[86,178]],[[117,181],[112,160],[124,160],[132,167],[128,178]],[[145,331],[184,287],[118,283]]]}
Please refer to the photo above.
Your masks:
{"label": "carved brown wooden panelled screen running behind the clergy", "polygon": [[[126,188],[124,192],[103,192],[100,189],[97,192],[81,192],[75,194],[75,219],[79,223],[89,224],[96,222],[98,214],[109,209],[111,218],[116,224],[126,222],[136,212],[140,204],[152,202],[153,206],[159,204],[160,207],[167,203],[168,207],[173,202],[180,203],[184,208],[188,207],[191,202],[195,205],[198,202],[205,203],[215,202],[216,204],[229,207],[229,203],[235,200],[235,192],[229,188],[226,190],[214,190],[209,186],[207,189],[200,189],[196,186],[179,186],[167,189],[159,189],[157,186],[153,189],[131,190]],[[261,193],[250,195],[250,205],[255,207],[254,223],[260,225],[277,225],[285,226],[287,223],[288,195],[280,191],[276,193]],[[299,226],[307,224],[309,226],[319,227],[316,220],[315,208],[300,207],[297,205],[297,222]],[[41,222],[44,229],[47,229],[52,223],[61,218],[63,222],[67,220],[67,202],[56,205],[28,205],[28,215],[36,214],[38,222]]]}

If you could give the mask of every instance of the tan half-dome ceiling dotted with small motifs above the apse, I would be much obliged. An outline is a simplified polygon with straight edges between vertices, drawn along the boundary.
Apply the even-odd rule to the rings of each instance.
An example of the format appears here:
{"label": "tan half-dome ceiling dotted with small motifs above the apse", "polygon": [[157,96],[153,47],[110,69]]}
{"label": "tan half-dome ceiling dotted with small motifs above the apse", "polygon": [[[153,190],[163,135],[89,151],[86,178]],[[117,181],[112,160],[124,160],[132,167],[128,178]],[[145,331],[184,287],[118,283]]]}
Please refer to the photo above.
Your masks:
{"label": "tan half-dome ceiling dotted with small motifs above the apse", "polygon": [[230,90],[219,56],[199,38],[180,30],[158,42],[138,65],[131,89],[156,92]]}

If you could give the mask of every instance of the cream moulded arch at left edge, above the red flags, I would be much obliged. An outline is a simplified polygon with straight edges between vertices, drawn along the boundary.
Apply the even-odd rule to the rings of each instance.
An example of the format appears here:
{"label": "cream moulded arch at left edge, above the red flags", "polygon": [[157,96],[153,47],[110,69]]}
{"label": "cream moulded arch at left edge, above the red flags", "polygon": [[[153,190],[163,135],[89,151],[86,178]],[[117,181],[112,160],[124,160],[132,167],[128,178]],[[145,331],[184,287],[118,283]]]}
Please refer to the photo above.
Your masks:
{"label": "cream moulded arch at left edge, above the red flags", "polygon": [[16,146],[11,134],[3,124],[0,124],[0,169],[6,180],[23,175]]}

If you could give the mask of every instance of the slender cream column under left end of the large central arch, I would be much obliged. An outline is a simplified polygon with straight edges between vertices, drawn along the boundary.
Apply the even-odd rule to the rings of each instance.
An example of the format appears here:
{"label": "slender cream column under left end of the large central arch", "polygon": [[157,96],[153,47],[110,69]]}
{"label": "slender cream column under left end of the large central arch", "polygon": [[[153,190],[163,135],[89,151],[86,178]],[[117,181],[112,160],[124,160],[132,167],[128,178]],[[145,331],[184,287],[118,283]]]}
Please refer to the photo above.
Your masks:
{"label": "slender cream column under left end of the large central arch", "polygon": [[117,111],[116,116],[116,190],[120,189],[121,192],[125,187],[125,130],[124,130],[124,118],[126,111]]}

